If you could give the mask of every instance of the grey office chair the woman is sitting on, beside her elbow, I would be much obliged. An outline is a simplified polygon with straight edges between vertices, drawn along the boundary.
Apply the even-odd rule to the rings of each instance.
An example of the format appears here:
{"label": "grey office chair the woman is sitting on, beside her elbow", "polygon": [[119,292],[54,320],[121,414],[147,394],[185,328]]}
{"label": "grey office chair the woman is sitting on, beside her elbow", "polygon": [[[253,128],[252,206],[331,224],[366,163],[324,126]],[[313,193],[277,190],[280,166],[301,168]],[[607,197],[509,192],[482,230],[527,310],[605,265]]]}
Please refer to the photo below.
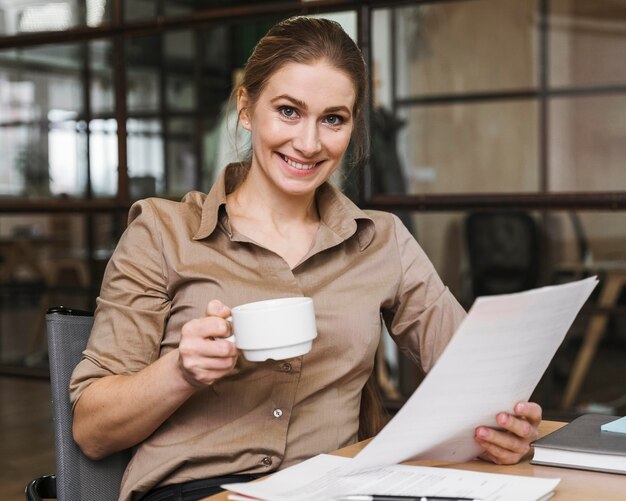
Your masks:
{"label": "grey office chair the woman is sitting on, beside her elbow", "polygon": [[26,486],[26,500],[116,501],[130,459],[129,451],[101,461],[88,459],[72,437],[72,406],[69,381],[87,345],[93,325],[89,312],[51,308],[46,315],[52,415],[54,418],[56,475],[45,475]]}

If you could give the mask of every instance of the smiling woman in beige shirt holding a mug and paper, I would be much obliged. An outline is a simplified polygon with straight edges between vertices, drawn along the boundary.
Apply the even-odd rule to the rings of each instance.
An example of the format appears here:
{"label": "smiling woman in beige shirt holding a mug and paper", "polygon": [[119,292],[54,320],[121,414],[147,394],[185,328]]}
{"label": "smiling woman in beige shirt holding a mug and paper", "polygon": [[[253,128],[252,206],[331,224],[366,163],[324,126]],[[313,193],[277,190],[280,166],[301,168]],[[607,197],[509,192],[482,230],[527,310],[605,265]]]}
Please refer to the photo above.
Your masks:
{"label": "smiling woman in beige shirt holding a mug and paper", "polygon": [[[353,443],[381,314],[425,371],[462,320],[399,220],[359,210],[327,182],[351,140],[365,150],[366,82],[338,24],[279,23],[236,92],[249,161],[208,195],[132,207],[71,385],[88,456],[134,447],[121,499],[198,499]],[[312,351],[246,361],[225,339],[229,306],[283,296],[314,299]],[[540,420],[538,405],[521,403],[498,416],[502,430],[480,427],[484,457],[519,461]]]}

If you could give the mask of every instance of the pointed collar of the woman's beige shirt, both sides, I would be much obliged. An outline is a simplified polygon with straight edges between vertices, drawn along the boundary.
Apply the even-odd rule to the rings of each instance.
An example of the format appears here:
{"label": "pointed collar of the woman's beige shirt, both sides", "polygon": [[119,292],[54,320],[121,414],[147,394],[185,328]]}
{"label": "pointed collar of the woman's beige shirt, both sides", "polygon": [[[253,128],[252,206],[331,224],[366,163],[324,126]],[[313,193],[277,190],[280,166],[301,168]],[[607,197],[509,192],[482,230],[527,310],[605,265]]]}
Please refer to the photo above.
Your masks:
{"label": "pointed collar of the woman's beige shirt, both sides", "polygon": [[[238,163],[229,164],[218,176],[202,204],[202,217],[194,240],[202,240],[211,235],[221,219],[230,233],[228,217],[221,208],[226,206],[226,195],[232,192],[244,177],[245,168]],[[374,238],[374,222],[348,197],[328,182],[318,188],[316,197],[322,224],[341,240],[347,240],[357,233],[361,250],[370,244]]]}

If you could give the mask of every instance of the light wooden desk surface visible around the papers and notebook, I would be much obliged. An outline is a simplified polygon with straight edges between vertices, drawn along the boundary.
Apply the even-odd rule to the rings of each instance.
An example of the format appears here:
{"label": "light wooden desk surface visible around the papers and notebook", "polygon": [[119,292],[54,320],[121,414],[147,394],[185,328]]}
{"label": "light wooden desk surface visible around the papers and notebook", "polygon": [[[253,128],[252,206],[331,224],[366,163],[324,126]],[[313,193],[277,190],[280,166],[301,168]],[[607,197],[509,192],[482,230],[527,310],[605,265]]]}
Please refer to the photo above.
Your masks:
{"label": "light wooden desk surface visible around the papers and notebook", "polygon": [[[565,423],[544,421],[540,426],[540,435],[546,435]],[[352,457],[363,448],[365,442],[351,445],[345,449],[334,452],[339,456]],[[508,475],[526,475],[529,477],[560,478],[561,482],[556,488],[555,501],[588,501],[598,499],[602,501],[623,501],[626,490],[626,477],[612,473],[599,473],[570,468],[556,468],[551,466],[532,465],[526,461],[512,466],[499,466],[481,460],[467,463],[443,463],[441,461],[413,461],[410,464],[420,466],[448,466],[461,470],[482,471],[485,473],[506,473]],[[223,492],[205,498],[203,501],[226,501],[227,493]]]}

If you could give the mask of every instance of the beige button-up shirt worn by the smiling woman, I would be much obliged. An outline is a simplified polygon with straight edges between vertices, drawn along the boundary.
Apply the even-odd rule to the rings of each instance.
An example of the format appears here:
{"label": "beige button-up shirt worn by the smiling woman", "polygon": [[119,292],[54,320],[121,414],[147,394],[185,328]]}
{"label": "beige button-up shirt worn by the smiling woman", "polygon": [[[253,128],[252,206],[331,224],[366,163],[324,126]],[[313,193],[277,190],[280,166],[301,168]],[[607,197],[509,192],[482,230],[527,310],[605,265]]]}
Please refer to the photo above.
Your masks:
{"label": "beige button-up shirt worn by the smiling woman", "polygon": [[232,374],[198,391],[135,447],[120,499],[191,479],[266,473],[355,442],[381,315],[402,352],[428,371],[465,314],[398,218],[362,211],[329,184],[317,193],[315,244],[290,268],[230,226],[235,170],[208,195],[133,205],[72,401],[95,379],[137,372],[175,349],[183,324],[214,298],[232,307],[312,297],[318,337],[311,352],[287,361],[240,357]]}

